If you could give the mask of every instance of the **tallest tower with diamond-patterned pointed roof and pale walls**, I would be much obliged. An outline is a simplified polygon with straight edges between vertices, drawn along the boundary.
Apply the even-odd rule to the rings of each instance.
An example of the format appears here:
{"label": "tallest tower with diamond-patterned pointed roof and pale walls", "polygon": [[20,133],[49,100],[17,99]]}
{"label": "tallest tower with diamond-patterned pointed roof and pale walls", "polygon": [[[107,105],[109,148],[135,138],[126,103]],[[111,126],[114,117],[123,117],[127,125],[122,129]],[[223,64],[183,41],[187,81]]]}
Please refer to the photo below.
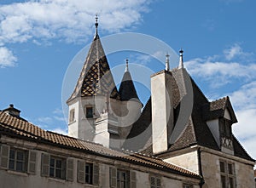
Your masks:
{"label": "tallest tower with diamond-patterned pointed roof and pale walls", "polygon": [[[98,35],[97,15],[95,26],[95,37],[90,45],[78,83],[67,100],[68,135],[90,141],[96,141],[96,123],[99,125],[105,122],[100,121],[99,118],[108,117],[105,113],[112,112],[109,104],[112,100],[119,100],[119,92]],[[102,114],[105,115],[102,116]],[[108,131],[108,126],[103,127]]]}

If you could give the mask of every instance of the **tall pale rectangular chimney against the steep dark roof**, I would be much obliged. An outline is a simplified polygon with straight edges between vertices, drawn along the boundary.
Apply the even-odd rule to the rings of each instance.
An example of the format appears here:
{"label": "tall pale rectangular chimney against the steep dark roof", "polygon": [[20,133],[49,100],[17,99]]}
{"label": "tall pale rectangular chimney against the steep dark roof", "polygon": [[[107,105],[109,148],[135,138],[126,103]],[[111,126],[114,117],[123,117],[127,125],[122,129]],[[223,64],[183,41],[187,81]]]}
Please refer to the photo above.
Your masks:
{"label": "tall pale rectangular chimney against the steep dark roof", "polygon": [[159,71],[151,76],[153,153],[166,151],[173,129],[172,73]]}

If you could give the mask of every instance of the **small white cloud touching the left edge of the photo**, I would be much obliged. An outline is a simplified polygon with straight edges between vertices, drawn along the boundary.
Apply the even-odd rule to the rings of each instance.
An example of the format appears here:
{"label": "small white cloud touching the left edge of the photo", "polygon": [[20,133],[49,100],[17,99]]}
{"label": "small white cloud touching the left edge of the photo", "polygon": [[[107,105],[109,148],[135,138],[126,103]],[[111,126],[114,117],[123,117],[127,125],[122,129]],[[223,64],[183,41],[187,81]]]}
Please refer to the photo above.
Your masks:
{"label": "small white cloud touching the left edge of the photo", "polygon": [[6,47],[0,47],[0,68],[15,66],[16,56]]}

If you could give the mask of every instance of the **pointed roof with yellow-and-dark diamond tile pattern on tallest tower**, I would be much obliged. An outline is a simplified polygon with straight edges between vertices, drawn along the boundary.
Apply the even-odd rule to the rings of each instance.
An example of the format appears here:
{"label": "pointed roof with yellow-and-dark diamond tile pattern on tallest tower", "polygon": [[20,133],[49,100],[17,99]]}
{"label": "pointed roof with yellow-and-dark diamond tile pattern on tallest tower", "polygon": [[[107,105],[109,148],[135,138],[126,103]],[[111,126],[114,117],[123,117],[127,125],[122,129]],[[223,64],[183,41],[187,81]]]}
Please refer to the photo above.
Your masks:
{"label": "pointed roof with yellow-and-dark diamond tile pattern on tallest tower", "polygon": [[79,81],[67,102],[76,97],[103,94],[119,100],[119,92],[113,81],[108,60],[99,35],[96,33],[90,45]]}

